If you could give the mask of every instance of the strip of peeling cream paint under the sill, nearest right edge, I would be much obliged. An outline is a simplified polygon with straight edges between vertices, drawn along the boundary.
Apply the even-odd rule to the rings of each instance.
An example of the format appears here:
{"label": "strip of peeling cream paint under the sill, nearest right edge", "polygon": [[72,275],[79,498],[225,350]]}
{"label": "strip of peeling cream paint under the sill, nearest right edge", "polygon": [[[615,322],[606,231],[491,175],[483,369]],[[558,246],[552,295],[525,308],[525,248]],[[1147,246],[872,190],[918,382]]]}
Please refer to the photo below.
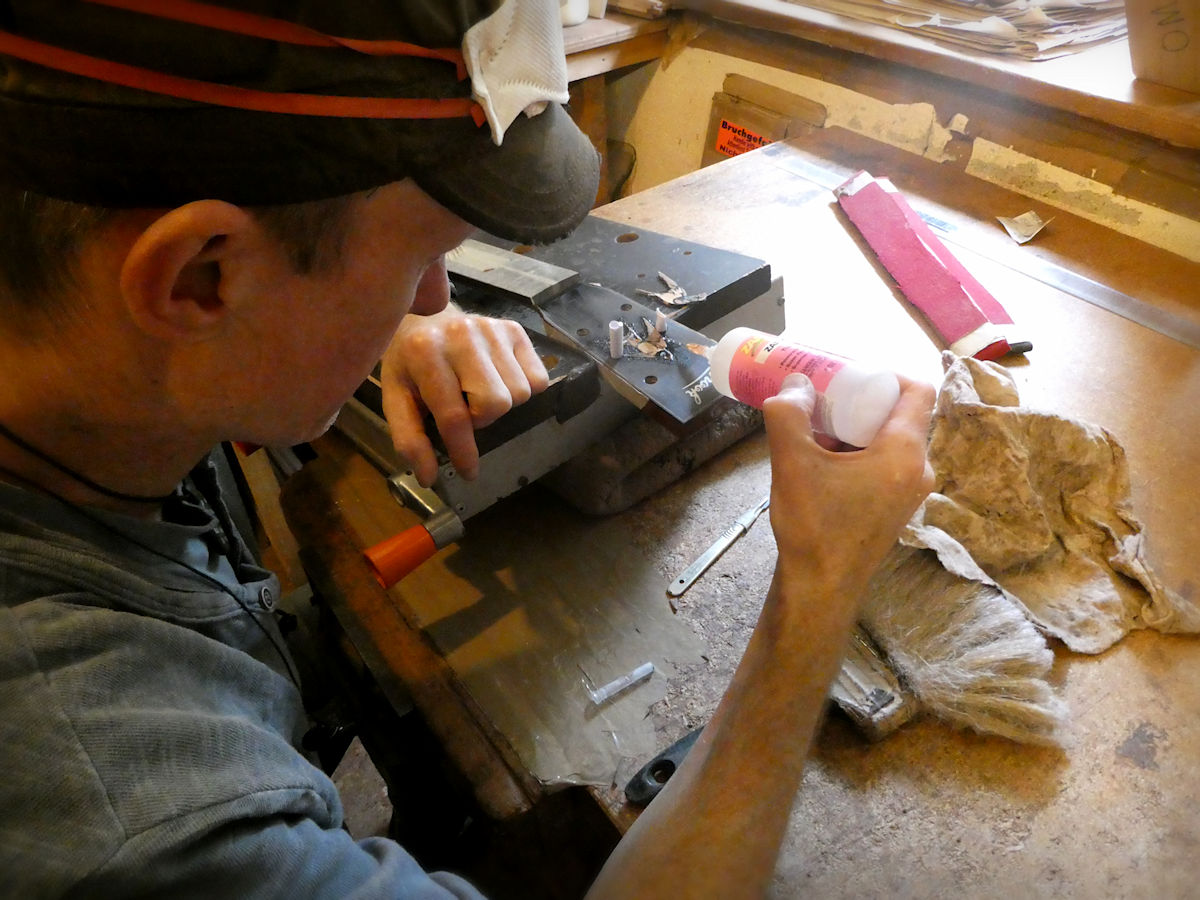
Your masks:
{"label": "strip of peeling cream paint under the sill, nearest right edge", "polygon": [[1102,181],[976,138],[966,172],[1200,263],[1200,222],[1115,193]]}

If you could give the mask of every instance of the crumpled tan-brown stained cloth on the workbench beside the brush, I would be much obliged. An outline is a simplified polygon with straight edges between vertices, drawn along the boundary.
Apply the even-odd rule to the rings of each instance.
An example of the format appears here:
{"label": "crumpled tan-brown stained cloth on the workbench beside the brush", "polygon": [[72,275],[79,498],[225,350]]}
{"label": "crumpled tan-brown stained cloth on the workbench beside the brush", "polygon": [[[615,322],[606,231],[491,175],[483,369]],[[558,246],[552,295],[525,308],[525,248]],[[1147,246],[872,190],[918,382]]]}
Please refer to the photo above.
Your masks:
{"label": "crumpled tan-brown stained cloth on the workbench beside the brush", "polygon": [[943,355],[935,488],[900,542],[992,584],[1045,635],[1100,653],[1134,629],[1200,631],[1144,557],[1126,455],[1105,428],[1020,406],[1003,366]]}

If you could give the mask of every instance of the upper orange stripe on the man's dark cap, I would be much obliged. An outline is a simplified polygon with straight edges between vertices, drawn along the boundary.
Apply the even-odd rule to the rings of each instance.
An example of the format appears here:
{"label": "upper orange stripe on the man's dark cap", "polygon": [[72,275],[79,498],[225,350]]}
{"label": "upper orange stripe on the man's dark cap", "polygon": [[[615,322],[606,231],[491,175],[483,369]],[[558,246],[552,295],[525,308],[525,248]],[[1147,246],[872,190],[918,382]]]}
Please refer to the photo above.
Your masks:
{"label": "upper orange stripe on the man's dark cap", "polygon": [[262,37],[276,43],[292,43],[302,47],[344,47],[370,56],[439,59],[454,64],[458,80],[467,77],[462,50],[457,48],[436,49],[404,41],[365,41],[356,37],[337,37],[295,22],[272,19],[268,16],[240,10],[228,10],[197,0],[84,0],[84,2],[182,22],[188,25],[202,25],[246,37]]}

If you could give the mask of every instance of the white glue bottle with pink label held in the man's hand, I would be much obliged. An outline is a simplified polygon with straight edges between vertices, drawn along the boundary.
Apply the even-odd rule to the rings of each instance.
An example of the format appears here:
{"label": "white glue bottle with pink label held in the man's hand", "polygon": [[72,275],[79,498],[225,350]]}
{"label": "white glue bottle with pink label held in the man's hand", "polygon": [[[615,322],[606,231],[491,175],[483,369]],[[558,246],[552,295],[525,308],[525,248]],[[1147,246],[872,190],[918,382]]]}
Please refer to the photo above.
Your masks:
{"label": "white glue bottle with pink label held in the man's hand", "polygon": [[853,446],[871,443],[900,397],[892,372],[750,328],[736,328],[708,355],[713,386],[727,397],[762,408],[792,372],[816,388],[812,427]]}

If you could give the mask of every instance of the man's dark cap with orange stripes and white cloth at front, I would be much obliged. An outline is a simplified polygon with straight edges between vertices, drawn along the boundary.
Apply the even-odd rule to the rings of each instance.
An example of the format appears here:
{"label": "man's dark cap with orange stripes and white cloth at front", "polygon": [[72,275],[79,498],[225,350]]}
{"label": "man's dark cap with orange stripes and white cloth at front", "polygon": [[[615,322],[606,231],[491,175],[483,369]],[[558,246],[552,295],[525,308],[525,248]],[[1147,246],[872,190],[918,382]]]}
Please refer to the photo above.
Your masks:
{"label": "man's dark cap with orange stripes and white cloth at front", "polygon": [[[484,230],[556,240],[592,208],[599,157],[550,71],[565,73],[560,31],[557,48],[547,19],[522,32],[551,14],[560,28],[553,0],[0,0],[0,179],[161,208],[412,178]],[[485,19],[490,42],[464,54]],[[505,71],[505,49],[536,77]],[[494,121],[490,66],[492,88],[546,83],[527,91],[536,114]]]}

